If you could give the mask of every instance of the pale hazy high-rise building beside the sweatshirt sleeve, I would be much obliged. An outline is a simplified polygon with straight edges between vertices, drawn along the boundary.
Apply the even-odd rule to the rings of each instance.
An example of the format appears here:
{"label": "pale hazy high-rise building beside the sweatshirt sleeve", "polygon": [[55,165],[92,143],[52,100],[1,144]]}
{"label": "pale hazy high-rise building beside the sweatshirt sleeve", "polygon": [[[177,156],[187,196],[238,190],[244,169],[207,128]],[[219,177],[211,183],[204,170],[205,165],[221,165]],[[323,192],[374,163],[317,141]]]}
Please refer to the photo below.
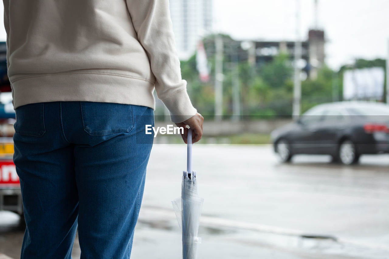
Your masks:
{"label": "pale hazy high-rise building beside the sweatshirt sleeve", "polygon": [[169,0],[177,51],[181,60],[196,51],[198,40],[212,30],[212,0]]}

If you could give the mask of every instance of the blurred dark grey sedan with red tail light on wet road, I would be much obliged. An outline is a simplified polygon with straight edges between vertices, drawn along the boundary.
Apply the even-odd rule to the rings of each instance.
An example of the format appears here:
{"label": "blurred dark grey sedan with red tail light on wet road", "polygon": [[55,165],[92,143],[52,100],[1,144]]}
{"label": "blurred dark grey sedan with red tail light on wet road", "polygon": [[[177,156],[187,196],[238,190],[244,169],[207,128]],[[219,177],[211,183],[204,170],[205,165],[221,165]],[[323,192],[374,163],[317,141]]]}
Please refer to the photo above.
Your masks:
{"label": "blurred dark grey sedan with red tail light on wet road", "polygon": [[389,105],[324,103],[275,129],[271,136],[283,162],[296,154],[328,154],[334,162],[354,164],[362,154],[389,153]]}

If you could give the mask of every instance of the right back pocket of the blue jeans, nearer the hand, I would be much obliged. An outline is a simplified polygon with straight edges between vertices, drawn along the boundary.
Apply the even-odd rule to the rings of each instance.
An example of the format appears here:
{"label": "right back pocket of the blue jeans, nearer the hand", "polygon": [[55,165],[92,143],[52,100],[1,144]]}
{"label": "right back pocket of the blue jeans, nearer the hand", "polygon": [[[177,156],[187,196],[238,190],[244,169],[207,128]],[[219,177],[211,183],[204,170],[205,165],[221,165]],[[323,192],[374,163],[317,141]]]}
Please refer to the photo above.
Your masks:
{"label": "right back pocket of the blue jeans, nearer the hand", "polygon": [[91,101],[80,103],[82,123],[89,135],[128,133],[134,128],[131,104]]}

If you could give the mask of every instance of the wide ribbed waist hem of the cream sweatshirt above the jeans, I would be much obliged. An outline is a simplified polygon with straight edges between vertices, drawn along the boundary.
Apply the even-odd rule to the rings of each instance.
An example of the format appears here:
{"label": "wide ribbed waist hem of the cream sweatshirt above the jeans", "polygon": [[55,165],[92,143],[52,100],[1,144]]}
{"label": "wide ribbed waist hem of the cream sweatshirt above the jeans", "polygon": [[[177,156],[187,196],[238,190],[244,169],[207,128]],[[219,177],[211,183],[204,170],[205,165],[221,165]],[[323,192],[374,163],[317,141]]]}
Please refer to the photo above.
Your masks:
{"label": "wide ribbed waist hem of the cream sweatshirt above the jeans", "polygon": [[95,101],[142,105],[155,110],[154,84],[148,80],[103,73],[63,73],[11,82],[14,109],[49,101]]}

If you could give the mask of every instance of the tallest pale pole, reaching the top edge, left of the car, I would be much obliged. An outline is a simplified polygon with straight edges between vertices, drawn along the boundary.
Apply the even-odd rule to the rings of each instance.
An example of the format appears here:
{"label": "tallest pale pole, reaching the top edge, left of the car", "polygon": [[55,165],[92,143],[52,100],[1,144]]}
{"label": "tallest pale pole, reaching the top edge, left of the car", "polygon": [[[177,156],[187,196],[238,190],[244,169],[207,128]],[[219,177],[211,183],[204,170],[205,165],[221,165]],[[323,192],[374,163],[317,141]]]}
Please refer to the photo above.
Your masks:
{"label": "tallest pale pole, reaching the top edge, left of the car", "polygon": [[301,79],[298,61],[301,59],[300,40],[300,0],[296,0],[296,42],[294,43],[294,87],[293,87],[293,119],[300,116]]}

